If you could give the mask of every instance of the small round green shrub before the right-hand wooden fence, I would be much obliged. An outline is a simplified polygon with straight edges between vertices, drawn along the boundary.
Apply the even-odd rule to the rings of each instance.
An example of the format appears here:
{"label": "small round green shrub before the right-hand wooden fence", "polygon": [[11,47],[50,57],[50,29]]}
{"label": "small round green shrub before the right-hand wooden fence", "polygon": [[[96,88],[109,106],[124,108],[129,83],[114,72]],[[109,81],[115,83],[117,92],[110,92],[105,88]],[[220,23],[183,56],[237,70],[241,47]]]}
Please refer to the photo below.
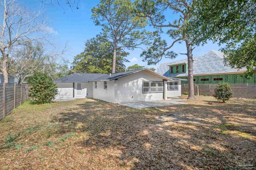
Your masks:
{"label": "small round green shrub before the right-hand wooden fence", "polygon": [[218,83],[212,96],[225,103],[233,97],[231,85],[227,82]]}

